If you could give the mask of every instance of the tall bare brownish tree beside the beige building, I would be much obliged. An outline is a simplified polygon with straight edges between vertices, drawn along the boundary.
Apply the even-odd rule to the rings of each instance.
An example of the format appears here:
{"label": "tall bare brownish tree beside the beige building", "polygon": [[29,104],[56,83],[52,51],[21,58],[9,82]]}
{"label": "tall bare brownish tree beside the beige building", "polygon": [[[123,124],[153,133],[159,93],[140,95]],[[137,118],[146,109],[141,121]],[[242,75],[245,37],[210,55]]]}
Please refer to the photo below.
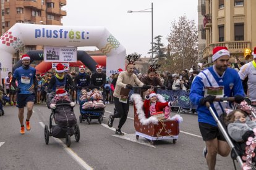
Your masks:
{"label": "tall bare brownish tree beside the beige building", "polygon": [[179,17],[178,22],[172,22],[166,58],[162,68],[171,73],[180,73],[182,69],[192,68],[198,63],[197,27],[195,21],[188,20],[186,15]]}

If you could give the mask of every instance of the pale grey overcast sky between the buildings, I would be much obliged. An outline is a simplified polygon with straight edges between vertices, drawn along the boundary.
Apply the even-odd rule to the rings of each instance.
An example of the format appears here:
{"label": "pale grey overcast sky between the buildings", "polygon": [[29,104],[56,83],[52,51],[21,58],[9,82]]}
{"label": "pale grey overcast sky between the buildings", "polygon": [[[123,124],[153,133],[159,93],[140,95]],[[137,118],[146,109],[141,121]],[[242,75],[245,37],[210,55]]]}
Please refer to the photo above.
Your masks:
{"label": "pale grey overcast sky between the buildings", "polygon": [[[126,54],[138,52],[150,57],[151,13],[127,13],[127,10],[151,8],[153,2],[153,34],[163,36],[167,45],[171,22],[186,14],[197,25],[197,0],[69,0],[62,18],[63,25],[104,26],[126,48]],[[79,49],[94,50],[96,47]]]}

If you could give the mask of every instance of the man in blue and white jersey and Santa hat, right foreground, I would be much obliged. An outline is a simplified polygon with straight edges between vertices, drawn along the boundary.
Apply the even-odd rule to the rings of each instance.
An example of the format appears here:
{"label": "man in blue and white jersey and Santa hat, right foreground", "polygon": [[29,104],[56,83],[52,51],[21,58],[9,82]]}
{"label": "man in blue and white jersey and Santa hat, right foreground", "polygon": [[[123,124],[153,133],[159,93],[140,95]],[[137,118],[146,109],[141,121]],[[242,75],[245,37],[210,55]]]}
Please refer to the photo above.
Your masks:
{"label": "man in blue and white jersey and Santa hat, right foreground", "polygon": [[236,70],[228,68],[230,54],[226,47],[215,47],[213,49],[213,67],[201,71],[194,79],[190,89],[190,100],[197,107],[198,124],[205,141],[203,155],[208,164],[208,169],[215,169],[216,155],[228,156],[230,147],[211,115],[205,106],[206,102],[211,103],[211,108],[218,116],[224,113],[224,108],[228,108],[228,103],[214,102],[215,95],[221,97],[234,96],[235,102],[244,100],[244,90],[242,82]]}

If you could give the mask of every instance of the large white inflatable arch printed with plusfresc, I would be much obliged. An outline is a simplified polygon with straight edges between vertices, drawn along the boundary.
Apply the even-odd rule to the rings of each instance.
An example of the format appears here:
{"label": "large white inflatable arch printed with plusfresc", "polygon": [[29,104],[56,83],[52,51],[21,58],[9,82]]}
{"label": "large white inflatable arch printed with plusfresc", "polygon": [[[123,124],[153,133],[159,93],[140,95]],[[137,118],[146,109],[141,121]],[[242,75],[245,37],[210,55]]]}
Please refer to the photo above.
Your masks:
{"label": "large white inflatable arch printed with plusfresc", "polygon": [[117,68],[125,68],[126,49],[104,27],[16,23],[1,36],[0,40],[2,78],[12,71],[12,54],[25,45],[96,46],[107,56],[107,76]]}

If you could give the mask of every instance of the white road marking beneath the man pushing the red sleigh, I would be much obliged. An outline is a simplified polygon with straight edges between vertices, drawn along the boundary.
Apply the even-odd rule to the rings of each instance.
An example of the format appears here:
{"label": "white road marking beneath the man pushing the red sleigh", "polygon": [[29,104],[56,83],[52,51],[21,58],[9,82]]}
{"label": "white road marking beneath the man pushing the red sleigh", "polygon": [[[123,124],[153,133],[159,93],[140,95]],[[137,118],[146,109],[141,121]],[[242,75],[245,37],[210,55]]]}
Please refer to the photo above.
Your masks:
{"label": "white road marking beneath the man pushing the red sleigh", "polygon": [[[111,129],[112,131],[116,131],[116,129],[114,127],[108,127],[107,124],[101,123],[101,125],[108,128],[108,129]],[[146,145],[148,147],[156,148],[155,146],[149,144],[149,142],[146,139],[142,138],[142,139],[137,140],[135,134],[127,134],[125,132],[123,132],[123,133],[124,133],[124,136],[119,136],[119,135],[112,135],[112,136],[119,137],[121,139],[126,139],[126,140],[129,140],[129,141],[135,142],[137,144],[142,144],[142,145]]]}

